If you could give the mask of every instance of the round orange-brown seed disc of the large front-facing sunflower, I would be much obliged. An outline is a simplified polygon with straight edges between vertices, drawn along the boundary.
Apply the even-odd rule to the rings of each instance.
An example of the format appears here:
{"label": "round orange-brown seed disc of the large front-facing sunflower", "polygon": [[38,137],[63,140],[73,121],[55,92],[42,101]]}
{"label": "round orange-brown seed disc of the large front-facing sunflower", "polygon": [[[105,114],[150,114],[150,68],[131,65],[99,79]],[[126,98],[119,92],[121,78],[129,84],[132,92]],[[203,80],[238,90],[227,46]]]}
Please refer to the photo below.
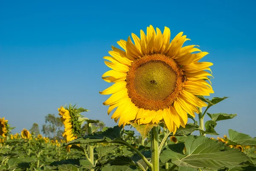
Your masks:
{"label": "round orange-brown seed disc of the large front-facing sunflower", "polygon": [[183,71],[173,59],[152,54],[131,64],[126,87],[129,98],[137,107],[159,110],[173,104],[184,80]]}

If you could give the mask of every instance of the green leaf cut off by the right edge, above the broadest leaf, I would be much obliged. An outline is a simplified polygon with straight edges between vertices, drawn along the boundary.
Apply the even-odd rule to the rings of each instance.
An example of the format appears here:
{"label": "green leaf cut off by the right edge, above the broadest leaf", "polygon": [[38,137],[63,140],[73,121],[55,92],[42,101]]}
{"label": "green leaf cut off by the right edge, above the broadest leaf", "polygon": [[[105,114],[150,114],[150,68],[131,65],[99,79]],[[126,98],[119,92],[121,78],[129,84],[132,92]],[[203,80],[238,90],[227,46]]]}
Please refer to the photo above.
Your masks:
{"label": "green leaf cut off by the right edge, above the broadest leaf", "polygon": [[252,138],[251,136],[239,133],[235,130],[228,130],[230,139],[228,139],[228,144],[230,145],[256,145],[256,137]]}

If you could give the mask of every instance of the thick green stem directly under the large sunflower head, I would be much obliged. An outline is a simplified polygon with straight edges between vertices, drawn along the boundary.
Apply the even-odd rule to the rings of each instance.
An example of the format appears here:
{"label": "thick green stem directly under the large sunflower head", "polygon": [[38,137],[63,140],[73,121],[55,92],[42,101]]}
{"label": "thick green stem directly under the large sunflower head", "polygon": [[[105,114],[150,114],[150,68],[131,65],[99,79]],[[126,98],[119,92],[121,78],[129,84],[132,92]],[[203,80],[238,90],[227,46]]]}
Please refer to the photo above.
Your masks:
{"label": "thick green stem directly under the large sunflower head", "polygon": [[159,171],[158,127],[151,129],[151,171]]}

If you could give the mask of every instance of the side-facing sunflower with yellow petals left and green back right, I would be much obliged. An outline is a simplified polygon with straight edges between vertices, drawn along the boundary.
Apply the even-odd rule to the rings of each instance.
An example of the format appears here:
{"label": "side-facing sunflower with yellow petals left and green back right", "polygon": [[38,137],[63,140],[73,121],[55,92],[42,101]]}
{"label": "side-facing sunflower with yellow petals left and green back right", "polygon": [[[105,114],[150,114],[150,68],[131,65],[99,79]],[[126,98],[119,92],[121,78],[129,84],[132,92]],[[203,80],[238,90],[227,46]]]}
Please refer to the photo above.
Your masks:
{"label": "side-facing sunflower with yellow petals left and green back right", "polygon": [[[83,121],[79,121],[79,117],[81,117],[80,113],[88,110],[81,107],[77,109],[76,105],[72,106],[70,104],[69,108],[67,108],[67,106],[65,108],[61,106],[61,108],[58,108],[58,111],[58,115],[61,116],[61,122],[65,127],[62,136],[66,139],[66,142],[77,139],[77,137],[83,133],[83,130],[81,130],[81,123]],[[71,146],[72,145],[66,146],[68,152],[70,152]]]}

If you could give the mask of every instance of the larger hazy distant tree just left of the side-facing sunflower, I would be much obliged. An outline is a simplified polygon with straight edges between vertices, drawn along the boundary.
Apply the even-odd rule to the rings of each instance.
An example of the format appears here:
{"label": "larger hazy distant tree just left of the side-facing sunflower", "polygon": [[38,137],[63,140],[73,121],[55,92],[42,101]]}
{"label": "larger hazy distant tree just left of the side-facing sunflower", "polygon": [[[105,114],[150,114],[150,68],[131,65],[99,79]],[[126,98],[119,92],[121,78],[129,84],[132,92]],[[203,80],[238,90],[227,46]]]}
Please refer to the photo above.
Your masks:
{"label": "larger hazy distant tree just left of the side-facing sunflower", "polygon": [[63,123],[60,117],[55,117],[54,114],[48,114],[45,116],[45,124],[43,125],[43,133],[50,139],[63,139],[61,128],[63,128]]}

